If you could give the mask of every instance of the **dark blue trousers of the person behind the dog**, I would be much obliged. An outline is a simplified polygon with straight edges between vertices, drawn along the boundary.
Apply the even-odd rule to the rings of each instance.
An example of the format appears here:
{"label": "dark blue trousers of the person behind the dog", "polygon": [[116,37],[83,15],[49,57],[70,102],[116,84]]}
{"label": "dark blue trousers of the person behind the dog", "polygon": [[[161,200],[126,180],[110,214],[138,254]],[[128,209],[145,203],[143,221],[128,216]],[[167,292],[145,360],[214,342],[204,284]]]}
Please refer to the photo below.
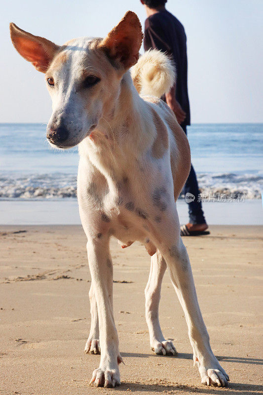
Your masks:
{"label": "dark blue trousers of the person behind the dog", "polygon": [[[187,134],[187,126],[182,126],[184,132]],[[190,193],[194,196],[194,200],[188,203],[189,222],[191,224],[205,224],[204,212],[202,210],[202,203],[198,201],[198,182],[193,166],[191,165],[190,173],[187,182],[183,188],[183,194]]]}

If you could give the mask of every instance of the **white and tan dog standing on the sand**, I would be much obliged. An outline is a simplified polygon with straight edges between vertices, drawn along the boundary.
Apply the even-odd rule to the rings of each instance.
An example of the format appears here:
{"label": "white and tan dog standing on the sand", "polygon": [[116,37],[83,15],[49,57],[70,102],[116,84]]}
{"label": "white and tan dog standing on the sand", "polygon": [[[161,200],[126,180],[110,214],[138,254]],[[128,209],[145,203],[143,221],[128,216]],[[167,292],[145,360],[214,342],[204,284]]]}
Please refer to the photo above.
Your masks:
{"label": "white and tan dog standing on the sand", "polygon": [[[109,249],[114,236],[122,247],[143,242],[151,255],[145,290],[151,349],[176,355],[158,319],[161,282],[168,267],[202,383],[226,386],[229,378],[211,350],[180,237],[176,200],[188,177],[190,150],[174,114],[158,98],[174,82],[170,60],[157,51],[139,59],[143,34],[131,11],[105,39],[84,37],[62,46],[14,24],[10,30],[17,51],[45,73],[53,102],[47,139],[55,147],[79,147],[77,196],[92,278],[91,330],[85,351],[101,350],[91,383],[120,384],[122,358],[113,318]],[[140,96],[135,86],[149,96]]]}

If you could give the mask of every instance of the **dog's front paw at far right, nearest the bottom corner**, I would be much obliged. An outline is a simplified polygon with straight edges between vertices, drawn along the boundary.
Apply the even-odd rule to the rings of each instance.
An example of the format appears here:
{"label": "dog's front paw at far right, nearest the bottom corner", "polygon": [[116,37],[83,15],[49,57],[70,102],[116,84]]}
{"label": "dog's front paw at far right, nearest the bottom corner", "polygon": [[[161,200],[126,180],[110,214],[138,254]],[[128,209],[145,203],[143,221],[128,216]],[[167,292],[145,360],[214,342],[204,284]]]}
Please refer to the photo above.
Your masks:
{"label": "dog's front paw at far right, nearest the bottom corner", "polygon": [[202,384],[216,387],[228,386],[229,377],[215,356],[210,362],[204,360],[203,363],[199,363],[197,358],[195,358],[195,361],[198,364]]}

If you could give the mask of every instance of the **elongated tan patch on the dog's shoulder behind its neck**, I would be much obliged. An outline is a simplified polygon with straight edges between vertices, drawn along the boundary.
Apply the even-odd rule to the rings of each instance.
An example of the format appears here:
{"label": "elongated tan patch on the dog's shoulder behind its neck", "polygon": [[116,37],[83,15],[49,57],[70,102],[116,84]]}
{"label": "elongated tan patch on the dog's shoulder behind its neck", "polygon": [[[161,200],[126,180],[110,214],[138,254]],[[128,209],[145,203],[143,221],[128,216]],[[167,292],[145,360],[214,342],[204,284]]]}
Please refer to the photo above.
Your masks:
{"label": "elongated tan patch on the dog's shoulder behind its neck", "polygon": [[162,118],[156,113],[156,111],[151,109],[151,114],[157,133],[156,139],[152,145],[152,155],[154,156],[154,158],[159,159],[163,157],[164,153],[168,150],[169,147],[168,131],[165,123],[163,122]]}

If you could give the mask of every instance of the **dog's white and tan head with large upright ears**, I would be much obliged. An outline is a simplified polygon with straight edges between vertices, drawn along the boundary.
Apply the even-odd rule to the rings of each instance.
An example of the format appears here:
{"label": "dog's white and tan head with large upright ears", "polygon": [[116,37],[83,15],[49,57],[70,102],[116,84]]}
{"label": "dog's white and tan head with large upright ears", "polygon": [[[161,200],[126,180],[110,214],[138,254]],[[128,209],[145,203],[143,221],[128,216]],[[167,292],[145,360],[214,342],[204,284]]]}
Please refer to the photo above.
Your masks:
{"label": "dog's white and tan head with large upright ears", "polygon": [[105,39],[84,37],[59,46],[13,23],[10,33],[20,55],[45,74],[53,109],[47,139],[59,148],[77,145],[100,118],[113,116],[121,79],[137,62],[143,39],[132,11]]}

